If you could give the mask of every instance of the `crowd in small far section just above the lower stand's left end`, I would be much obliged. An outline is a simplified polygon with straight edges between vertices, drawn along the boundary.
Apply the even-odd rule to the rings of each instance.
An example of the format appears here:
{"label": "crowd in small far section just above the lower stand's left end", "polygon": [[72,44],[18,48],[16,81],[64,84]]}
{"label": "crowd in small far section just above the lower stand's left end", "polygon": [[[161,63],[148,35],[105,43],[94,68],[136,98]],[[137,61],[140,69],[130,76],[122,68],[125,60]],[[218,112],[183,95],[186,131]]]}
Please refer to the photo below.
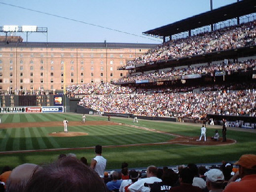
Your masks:
{"label": "crowd in small far section just above the lower stand's left end", "polygon": [[134,88],[115,86],[111,83],[86,83],[79,85],[71,85],[66,88],[70,97],[74,95],[90,95],[90,94],[121,94],[132,93]]}

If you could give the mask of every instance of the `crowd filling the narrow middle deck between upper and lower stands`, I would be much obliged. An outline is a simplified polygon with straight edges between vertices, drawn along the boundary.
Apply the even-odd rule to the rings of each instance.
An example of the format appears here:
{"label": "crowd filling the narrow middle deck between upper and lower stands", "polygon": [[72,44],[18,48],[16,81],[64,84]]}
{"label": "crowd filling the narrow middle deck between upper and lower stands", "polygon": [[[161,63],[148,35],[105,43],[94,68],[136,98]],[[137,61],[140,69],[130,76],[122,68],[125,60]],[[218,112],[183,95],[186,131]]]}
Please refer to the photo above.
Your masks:
{"label": "crowd filling the narrow middle deck between upper and lower stands", "polygon": [[161,77],[172,77],[172,76],[185,76],[193,74],[210,74],[214,75],[214,72],[226,72],[230,74],[231,72],[237,72],[238,70],[253,70],[256,66],[256,60],[250,59],[247,61],[241,62],[231,62],[213,64],[209,66],[198,66],[198,67],[184,67],[184,68],[173,68],[168,71],[156,71],[151,73],[142,73],[142,74],[131,74],[127,77],[119,78],[115,83],[126,83],[126,82],[135,82],[136,80],[145,80],[152,78],[161,78]]}

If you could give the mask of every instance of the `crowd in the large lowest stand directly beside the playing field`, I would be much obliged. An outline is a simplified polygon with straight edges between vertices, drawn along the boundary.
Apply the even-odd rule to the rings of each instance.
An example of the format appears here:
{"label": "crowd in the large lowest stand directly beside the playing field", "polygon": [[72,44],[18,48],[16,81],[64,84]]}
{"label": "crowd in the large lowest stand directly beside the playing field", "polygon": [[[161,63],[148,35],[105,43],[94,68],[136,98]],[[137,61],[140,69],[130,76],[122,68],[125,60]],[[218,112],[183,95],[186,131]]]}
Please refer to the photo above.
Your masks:
{"label": "crowd in the large lowest stand directly beside the playing field", "polygon": [[203,93],[86,95],[79,105],[98,112],[193,118],[207,114],[256,115],[256,90]]}

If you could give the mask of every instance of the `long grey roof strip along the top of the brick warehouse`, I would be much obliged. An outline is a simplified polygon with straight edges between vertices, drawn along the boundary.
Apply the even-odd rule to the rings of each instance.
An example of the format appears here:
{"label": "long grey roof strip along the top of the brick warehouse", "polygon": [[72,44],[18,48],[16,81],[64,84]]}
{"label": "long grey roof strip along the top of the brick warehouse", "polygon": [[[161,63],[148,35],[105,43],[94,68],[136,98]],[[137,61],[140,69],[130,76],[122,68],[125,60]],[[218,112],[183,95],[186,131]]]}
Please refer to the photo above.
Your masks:
{"label": "long grey roof strip along the top of the brick warehouse", "polygon": [[158,44],[115,42],[0,42],[0,47],[155,48]]}

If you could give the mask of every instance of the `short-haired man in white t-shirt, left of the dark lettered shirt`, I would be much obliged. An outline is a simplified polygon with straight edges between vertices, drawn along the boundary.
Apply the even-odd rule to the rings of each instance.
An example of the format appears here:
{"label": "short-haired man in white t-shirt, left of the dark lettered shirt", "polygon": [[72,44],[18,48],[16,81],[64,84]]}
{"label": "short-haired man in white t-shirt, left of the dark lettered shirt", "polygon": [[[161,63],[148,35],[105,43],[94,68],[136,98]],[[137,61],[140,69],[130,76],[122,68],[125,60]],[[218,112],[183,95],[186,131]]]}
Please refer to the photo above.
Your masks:
{"label": "short-haired man in white t-shirt, left of the dark lettered shirt", "polygon": [[156,177],[157,168],[153,165],[147,167],[146,178],[140,179],[134,184],[128,187],[129,192],[150,192],[149,187],[145,187],[146,184],[152,184],[154,182],[161,182],[162,180]]}

